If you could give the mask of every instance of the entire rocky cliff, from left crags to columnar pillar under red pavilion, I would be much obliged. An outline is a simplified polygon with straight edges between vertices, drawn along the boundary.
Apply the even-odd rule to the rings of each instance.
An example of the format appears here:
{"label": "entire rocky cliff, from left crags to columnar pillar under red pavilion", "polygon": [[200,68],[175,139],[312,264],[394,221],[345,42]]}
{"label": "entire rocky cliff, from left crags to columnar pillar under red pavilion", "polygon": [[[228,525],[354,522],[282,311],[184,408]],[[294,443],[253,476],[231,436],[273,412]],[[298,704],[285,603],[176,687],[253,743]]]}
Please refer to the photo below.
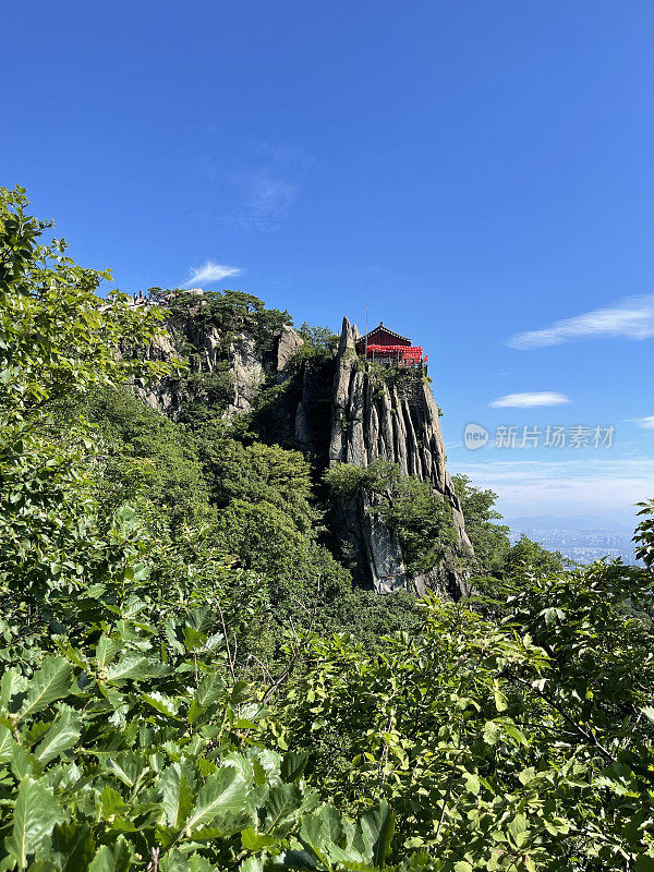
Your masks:
{"label": "entire rocky cliff, from left crags to columnar pillar under red pavilion", "polygon": [[457,564],[471,546],[445,464],[439,410],[422,373],[380,378],[368,372],[354,350],[359,331],[348,318],[334,355],[299,360],[303,339],[292,327],[264,337],[251,329],[226,332],[197,317],[201,305],[184,317],[171,314],[168,335],[154,340],[148,352],[152,359],[184,360],[186,374],[141,389],[143,399],[173,420],[187,420],[197,403],[213,408],[226,422],[246,414],[261,438],[303,450],[318,475],[339,463],[366,468],[383,459],[397,464],[401,474],[427,482],[451,508],[456,529],[457,543],[441,566],[409,574],[396,532],[375,511],[391,498],[390,492],[359,488],[339,498],[332,544],[337,552],[354,555],[353,566],[363,568],[360,583],[378,593],[432,588],[453,598],[465,595]]}

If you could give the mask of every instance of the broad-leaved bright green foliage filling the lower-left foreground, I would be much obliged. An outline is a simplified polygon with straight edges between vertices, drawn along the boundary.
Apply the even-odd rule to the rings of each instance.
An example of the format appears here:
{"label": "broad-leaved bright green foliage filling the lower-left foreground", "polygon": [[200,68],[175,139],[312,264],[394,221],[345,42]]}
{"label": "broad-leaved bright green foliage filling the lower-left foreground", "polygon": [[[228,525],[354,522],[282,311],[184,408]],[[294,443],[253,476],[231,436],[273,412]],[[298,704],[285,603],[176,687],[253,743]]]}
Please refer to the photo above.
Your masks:
{"label": "broad-leaved bright green foliage filling the lower-left foreground", "polygon": [[[97,590],[96,596],[107,594]],[[250,739],[264,706],[226,674],[209,609],[169,620],[166,641],[133,597],[98,610],[97,641],[58,640],[29,675],[0,690],[3,869],[262,868],[279,857],[315,868],[323,856],[373,865],[391,812],[352,822],[302,777],[307,755]],[[161,649],[164,656],[161,656]],[[8,794],[9,788],[9,794]]]}

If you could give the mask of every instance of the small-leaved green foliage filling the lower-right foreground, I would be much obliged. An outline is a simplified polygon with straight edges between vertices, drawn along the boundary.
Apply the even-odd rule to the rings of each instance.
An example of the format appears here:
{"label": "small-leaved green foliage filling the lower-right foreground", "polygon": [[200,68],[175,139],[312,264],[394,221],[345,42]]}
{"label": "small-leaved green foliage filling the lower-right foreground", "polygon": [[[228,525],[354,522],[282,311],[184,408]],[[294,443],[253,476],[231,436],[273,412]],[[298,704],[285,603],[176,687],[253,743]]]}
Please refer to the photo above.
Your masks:
{"label": "small-leaved green foliage filling the lower-right foreground", "polygon": [[523,577],[500,619],[433,600],[377,656],[316,640],[283,740],[437,869],[652,868],[652,606],[640,570],[595,566]]}

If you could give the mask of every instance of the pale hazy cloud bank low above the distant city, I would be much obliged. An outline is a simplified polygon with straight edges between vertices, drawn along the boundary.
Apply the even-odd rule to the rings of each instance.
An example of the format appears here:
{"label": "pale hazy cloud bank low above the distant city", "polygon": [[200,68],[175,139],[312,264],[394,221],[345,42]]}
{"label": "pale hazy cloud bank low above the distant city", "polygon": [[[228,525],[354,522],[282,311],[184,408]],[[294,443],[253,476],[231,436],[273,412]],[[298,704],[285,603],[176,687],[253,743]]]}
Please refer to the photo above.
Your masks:
{"label": "pale hazy cloud bank low above the distant city", "polygon": [[470,476],[477,487],[499,494],[507,517],[583,514],[631,524],[633,505],[654,496],[654,460],[601,458],[569,461],[508,460],[457,464],[452,472]]}

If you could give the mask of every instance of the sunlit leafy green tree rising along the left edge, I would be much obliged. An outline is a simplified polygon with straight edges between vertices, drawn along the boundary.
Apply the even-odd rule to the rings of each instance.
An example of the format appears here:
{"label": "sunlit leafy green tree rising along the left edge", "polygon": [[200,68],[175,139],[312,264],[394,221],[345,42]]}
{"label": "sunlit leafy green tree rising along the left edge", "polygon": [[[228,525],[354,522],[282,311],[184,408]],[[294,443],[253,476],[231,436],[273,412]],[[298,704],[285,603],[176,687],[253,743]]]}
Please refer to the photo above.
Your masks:
{"label": "sunlit leafy green tree rising along the left edge", "polygon": [[80,590],[102,564],[102,519],[85,457],[83,420],[55,435],[62,410],[100,385],[167,367],[118,353],[160,329],[124,295],[97,296],[108,272],[76,266],[65,243],[40,244],[51,223],[25,213],[23,189],[0,189],[0,596],[7,616],[45,619],[52,590]]}

